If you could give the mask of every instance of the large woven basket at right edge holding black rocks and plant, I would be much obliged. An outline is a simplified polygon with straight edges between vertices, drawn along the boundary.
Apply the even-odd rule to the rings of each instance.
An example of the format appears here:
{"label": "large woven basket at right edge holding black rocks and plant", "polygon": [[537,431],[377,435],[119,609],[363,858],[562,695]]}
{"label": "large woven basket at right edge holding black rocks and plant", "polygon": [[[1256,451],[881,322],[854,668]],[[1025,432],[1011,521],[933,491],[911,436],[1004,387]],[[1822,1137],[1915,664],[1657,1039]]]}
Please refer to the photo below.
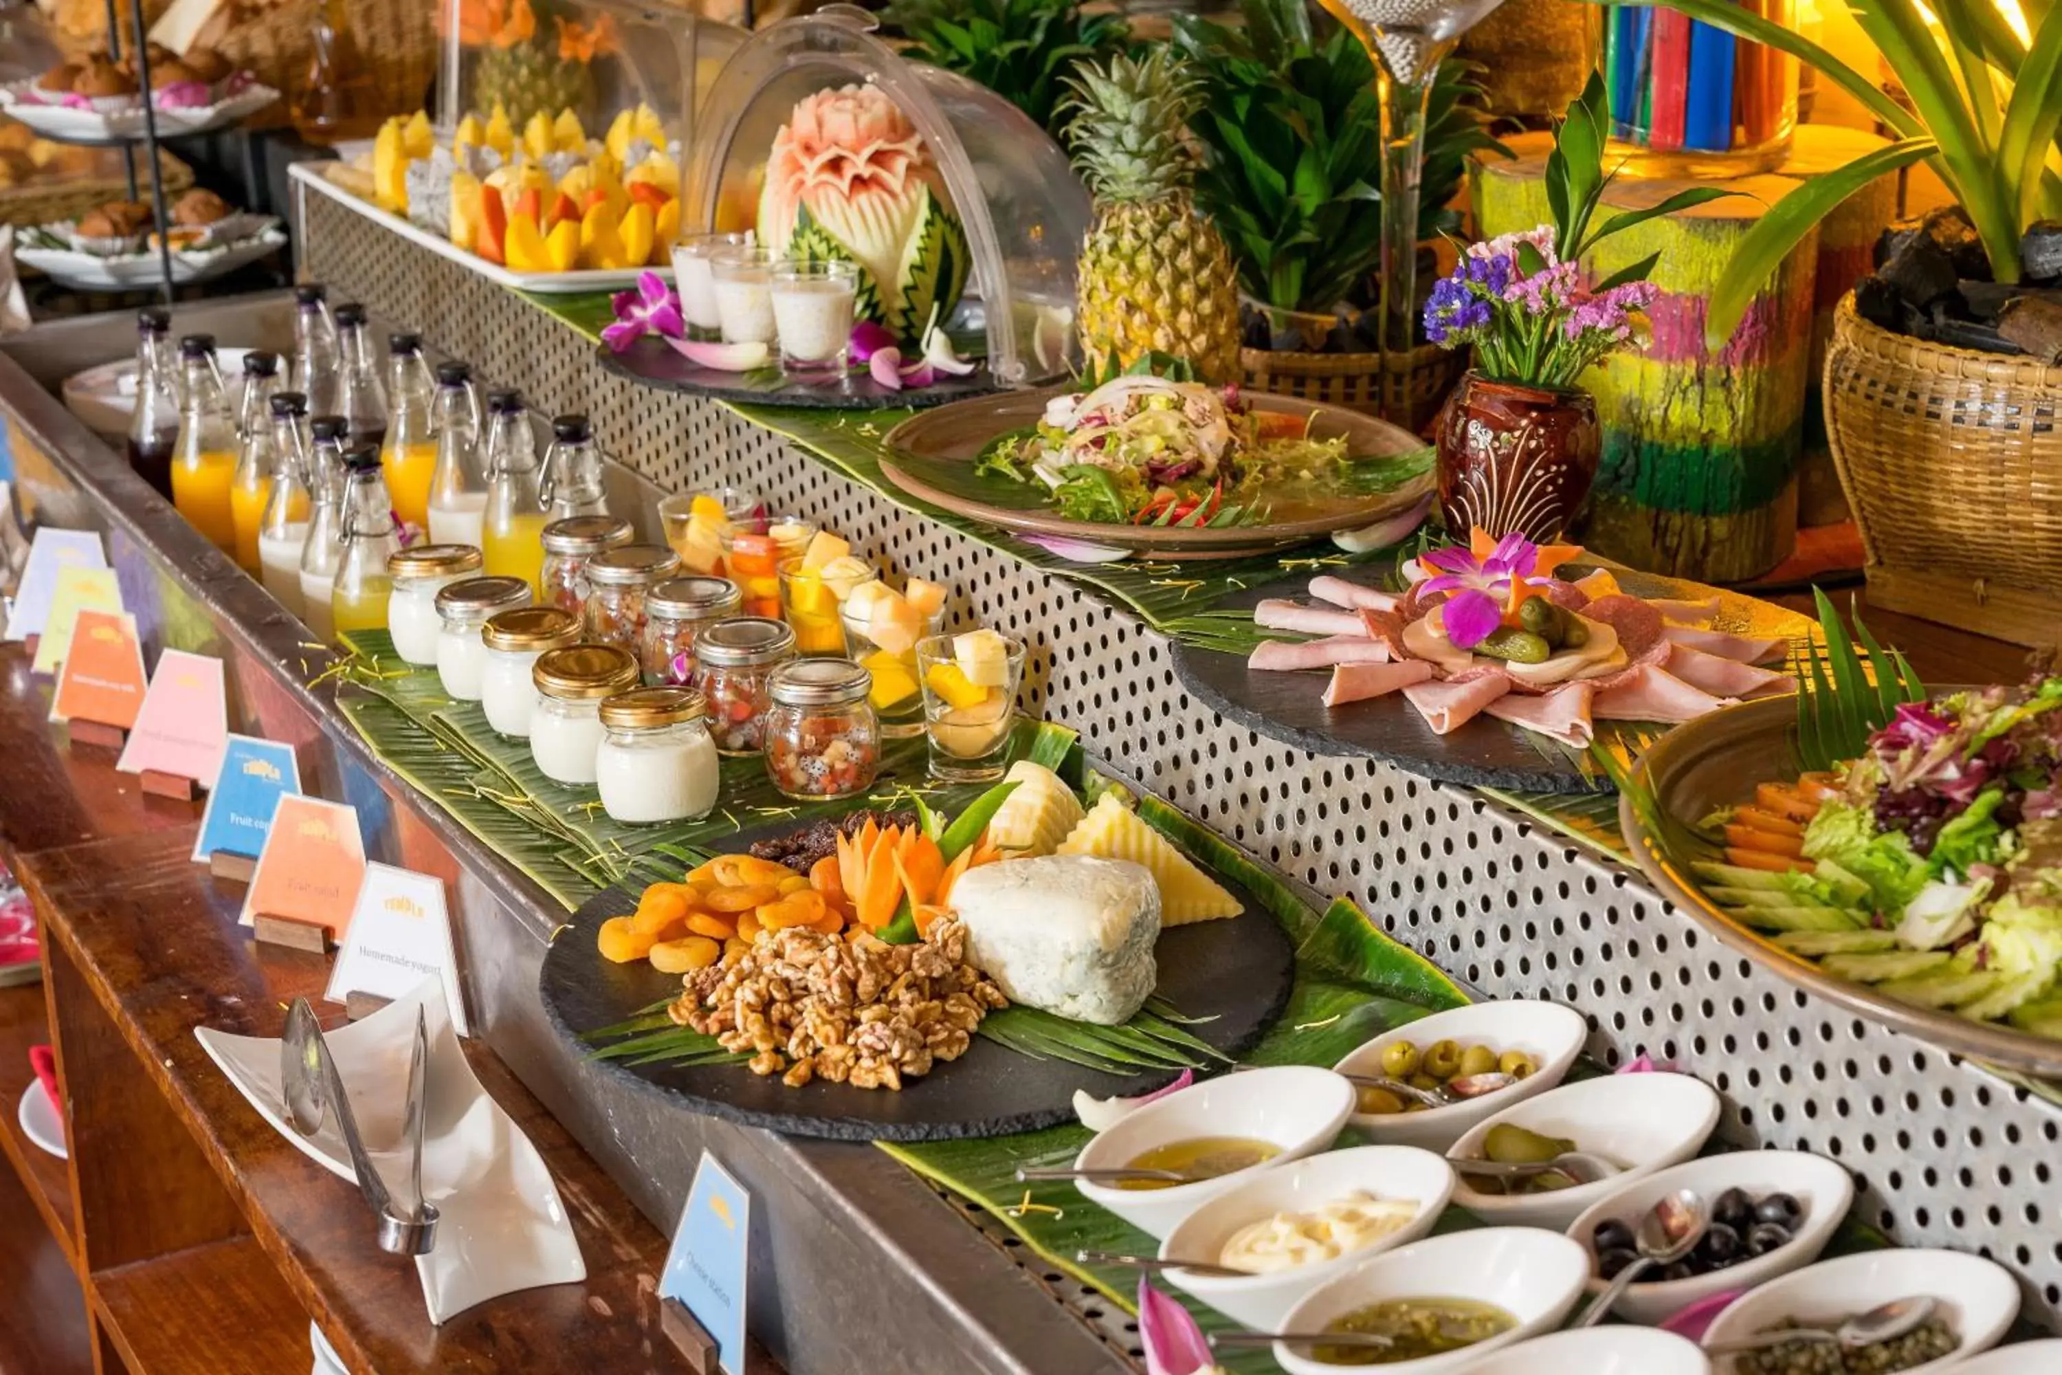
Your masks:
{"label": "large woven basket at right edge holding black rocks and plant", "polygon": [[2062,637],[2062,367],[1891,334],[1839,303],[1825,423],[1868,600],[2023,645]]}

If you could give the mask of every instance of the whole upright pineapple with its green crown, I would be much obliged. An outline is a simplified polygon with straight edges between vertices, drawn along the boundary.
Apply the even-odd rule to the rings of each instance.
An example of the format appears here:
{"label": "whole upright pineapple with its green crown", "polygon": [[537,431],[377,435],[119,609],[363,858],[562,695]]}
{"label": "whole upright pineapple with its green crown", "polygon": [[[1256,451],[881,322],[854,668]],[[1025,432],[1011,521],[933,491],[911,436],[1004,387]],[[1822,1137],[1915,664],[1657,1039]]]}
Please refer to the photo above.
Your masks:
{"label": "whole upright pineapple with its green crown", "polygon": [[1062,113],[1074,167],[1095,198],[1080,245],[1078,326],[1091,363],[1113,353],[1188,359],[1204,381],[1239,377],[1239,289],[1231,249],[1196,208],[1188,134],[1202,91],[1167,47],[1083,62]]}

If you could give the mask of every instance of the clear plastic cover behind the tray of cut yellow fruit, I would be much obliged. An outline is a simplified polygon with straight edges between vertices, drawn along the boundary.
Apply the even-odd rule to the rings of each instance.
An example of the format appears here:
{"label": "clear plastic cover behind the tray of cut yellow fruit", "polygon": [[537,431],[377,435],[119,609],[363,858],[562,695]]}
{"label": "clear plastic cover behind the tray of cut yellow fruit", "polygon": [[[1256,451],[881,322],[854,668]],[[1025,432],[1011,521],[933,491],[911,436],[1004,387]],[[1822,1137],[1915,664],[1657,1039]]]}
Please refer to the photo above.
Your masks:
{"label": "clear plastic cover behind the tray of cut yellow fruit", "polygon": [[631,0],[437,0],[443,41],[437,128],[499,103],[520,130],[542,111],[594,136],[637,105],[689,146],[693,111],[744,31]]}

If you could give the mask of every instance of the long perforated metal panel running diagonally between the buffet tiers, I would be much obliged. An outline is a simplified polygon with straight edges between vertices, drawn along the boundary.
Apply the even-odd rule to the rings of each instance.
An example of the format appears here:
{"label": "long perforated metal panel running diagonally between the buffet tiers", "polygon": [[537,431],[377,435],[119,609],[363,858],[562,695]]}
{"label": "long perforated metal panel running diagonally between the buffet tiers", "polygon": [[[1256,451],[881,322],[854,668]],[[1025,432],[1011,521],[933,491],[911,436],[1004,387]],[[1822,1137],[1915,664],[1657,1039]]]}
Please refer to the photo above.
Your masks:
{"label": "long perforated metal panel running diagonally between the buffet tiers", "polygon": [[[2029,1317],[2056,1326],[2054,1107],[1810,1000],[1701,936],[1633,874],[1466,790],[1225,724],[1190,701],[1165,641],[1130,614],[901,511],[718,406],[600,373],[571,330],[326,198],[307,210],[318,278],[394,317],[433,303],[423,326],[439,348],[538,404],[588,410],[604,445],[662,487],[757,487],[866,557],[957,588],[955,616],[977,604],[1033,645],[1027,705],[1080,730],[1120,773],[1316,891],[1361,901],[1483,992],[1579,1008],[1606,1064],[1645,1051],[1709,1080],[1726,1095],[1726,1140],[1839,1159],[1870,1222],[2013,1266]],[[1128,1344],[1122,1315],[1047,1284]]]}

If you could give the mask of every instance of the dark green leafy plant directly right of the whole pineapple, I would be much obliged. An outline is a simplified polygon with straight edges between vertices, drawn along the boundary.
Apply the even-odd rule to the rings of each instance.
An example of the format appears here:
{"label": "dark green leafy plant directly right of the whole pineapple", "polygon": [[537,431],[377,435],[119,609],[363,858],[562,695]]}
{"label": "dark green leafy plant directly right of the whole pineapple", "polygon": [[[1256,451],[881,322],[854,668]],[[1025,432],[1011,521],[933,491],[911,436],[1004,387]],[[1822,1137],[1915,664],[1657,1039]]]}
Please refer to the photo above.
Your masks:
{"label": "dark green leafy plant directly right of the whole pineapple", "polygon": [[[1248,295],[1283,309],[1357,301],[1382,258],[1375,66],[1344,29],[1324,33],[1303,0],[1243,0],[1235,29],[1175,16],[1175,47],[1202,74],[1190,128],[1204,148],[1196,202],[1217,221]],[[1489,136],[1476,70],[1443,62],[1425,120],[1419,237],[1460,227],[1445,202]]]}

